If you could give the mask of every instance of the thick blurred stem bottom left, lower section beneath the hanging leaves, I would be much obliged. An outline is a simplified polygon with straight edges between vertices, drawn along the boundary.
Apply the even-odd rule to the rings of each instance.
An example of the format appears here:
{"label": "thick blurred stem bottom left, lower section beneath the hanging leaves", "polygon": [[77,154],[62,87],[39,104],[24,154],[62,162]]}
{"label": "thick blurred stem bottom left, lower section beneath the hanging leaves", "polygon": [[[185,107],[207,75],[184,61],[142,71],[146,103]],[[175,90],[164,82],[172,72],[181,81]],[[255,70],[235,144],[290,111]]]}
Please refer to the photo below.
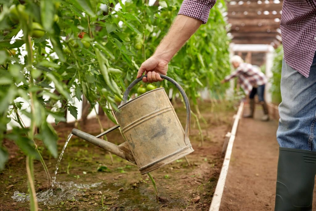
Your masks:
{"label": "thick blurred stem bottom left, lower section beneath the hanging leaves", "polygon": [[37,204],[36,192],[35,192],[35,186],[34,186],[33,158],[31,158],[30,156],[26,157],[26,171],[27,171],[28,190],[30,192],[30,207],[31,207],[30,210],[37,211],[38,204]]}

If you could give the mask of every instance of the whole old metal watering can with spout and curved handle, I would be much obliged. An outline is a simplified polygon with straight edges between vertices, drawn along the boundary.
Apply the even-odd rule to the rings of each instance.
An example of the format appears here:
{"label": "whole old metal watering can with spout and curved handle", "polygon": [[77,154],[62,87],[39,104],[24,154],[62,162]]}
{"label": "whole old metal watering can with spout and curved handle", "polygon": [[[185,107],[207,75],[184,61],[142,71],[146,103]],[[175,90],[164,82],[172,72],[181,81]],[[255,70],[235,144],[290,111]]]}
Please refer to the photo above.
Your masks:
{"label": "whole old metal watering can with spout and curved handle", "polygon": [[[148,91],[127,102],[133,86],[146,76],[137,78],[124,92],[118,111],[114,112],[118,125],[97,136],[72,129],[72,133],[77,137],[136,164],[142,175],[194,151],[189,140],[191,118],[189,101],[182,87],[172,78],[160,75],[161,78],[174,84],[183,96],[186,106],[185,130],[164,88]],[[126,140],[123,144],[115,145],[99,139],[119,127]]]}

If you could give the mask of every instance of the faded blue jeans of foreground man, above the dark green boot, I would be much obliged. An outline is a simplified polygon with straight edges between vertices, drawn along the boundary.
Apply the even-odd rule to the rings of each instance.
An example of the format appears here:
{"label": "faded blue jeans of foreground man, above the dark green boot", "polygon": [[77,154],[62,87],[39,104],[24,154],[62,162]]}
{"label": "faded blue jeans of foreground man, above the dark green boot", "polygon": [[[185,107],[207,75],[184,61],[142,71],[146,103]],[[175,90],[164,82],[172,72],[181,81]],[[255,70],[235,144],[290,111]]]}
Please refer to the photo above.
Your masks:
{"label": "faded blue jeans of foreground man, above the dark green boot", "polygon": [[316,52],[306,78],[283,59],[276,138],[280,147],[316,151]]}

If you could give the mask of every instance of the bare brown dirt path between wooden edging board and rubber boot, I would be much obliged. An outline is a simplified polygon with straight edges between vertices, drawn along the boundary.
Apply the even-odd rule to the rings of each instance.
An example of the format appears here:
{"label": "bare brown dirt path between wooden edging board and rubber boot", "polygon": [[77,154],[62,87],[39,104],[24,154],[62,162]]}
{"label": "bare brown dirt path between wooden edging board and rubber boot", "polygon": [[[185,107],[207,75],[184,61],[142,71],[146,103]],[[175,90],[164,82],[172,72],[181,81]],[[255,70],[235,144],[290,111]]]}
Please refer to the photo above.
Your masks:
{"label": "bare brown dirt path between wooden edging board and rubber boot", "polygon": [[260,121],[262,110],[256,109],[255,119],[240,119],[221,211],[274,210],[278,122]]}

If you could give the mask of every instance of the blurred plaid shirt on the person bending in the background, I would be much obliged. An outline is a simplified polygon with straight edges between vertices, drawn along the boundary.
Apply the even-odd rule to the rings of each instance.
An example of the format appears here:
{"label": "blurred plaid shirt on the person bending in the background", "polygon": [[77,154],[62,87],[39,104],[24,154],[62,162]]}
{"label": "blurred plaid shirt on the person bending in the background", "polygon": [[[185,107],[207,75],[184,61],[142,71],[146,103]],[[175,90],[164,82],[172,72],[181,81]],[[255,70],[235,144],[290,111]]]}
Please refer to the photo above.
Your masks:
{"label": "blurred plaid shirt on the person bending in the background", "polygon": [[236,71],[225,77],[225,81],[227,82],[235,77],[238,77],[238,83],[246,95],[250,94],[253,87],[266,84],[268,81],[263,72],[247,63],[240,64]]}

